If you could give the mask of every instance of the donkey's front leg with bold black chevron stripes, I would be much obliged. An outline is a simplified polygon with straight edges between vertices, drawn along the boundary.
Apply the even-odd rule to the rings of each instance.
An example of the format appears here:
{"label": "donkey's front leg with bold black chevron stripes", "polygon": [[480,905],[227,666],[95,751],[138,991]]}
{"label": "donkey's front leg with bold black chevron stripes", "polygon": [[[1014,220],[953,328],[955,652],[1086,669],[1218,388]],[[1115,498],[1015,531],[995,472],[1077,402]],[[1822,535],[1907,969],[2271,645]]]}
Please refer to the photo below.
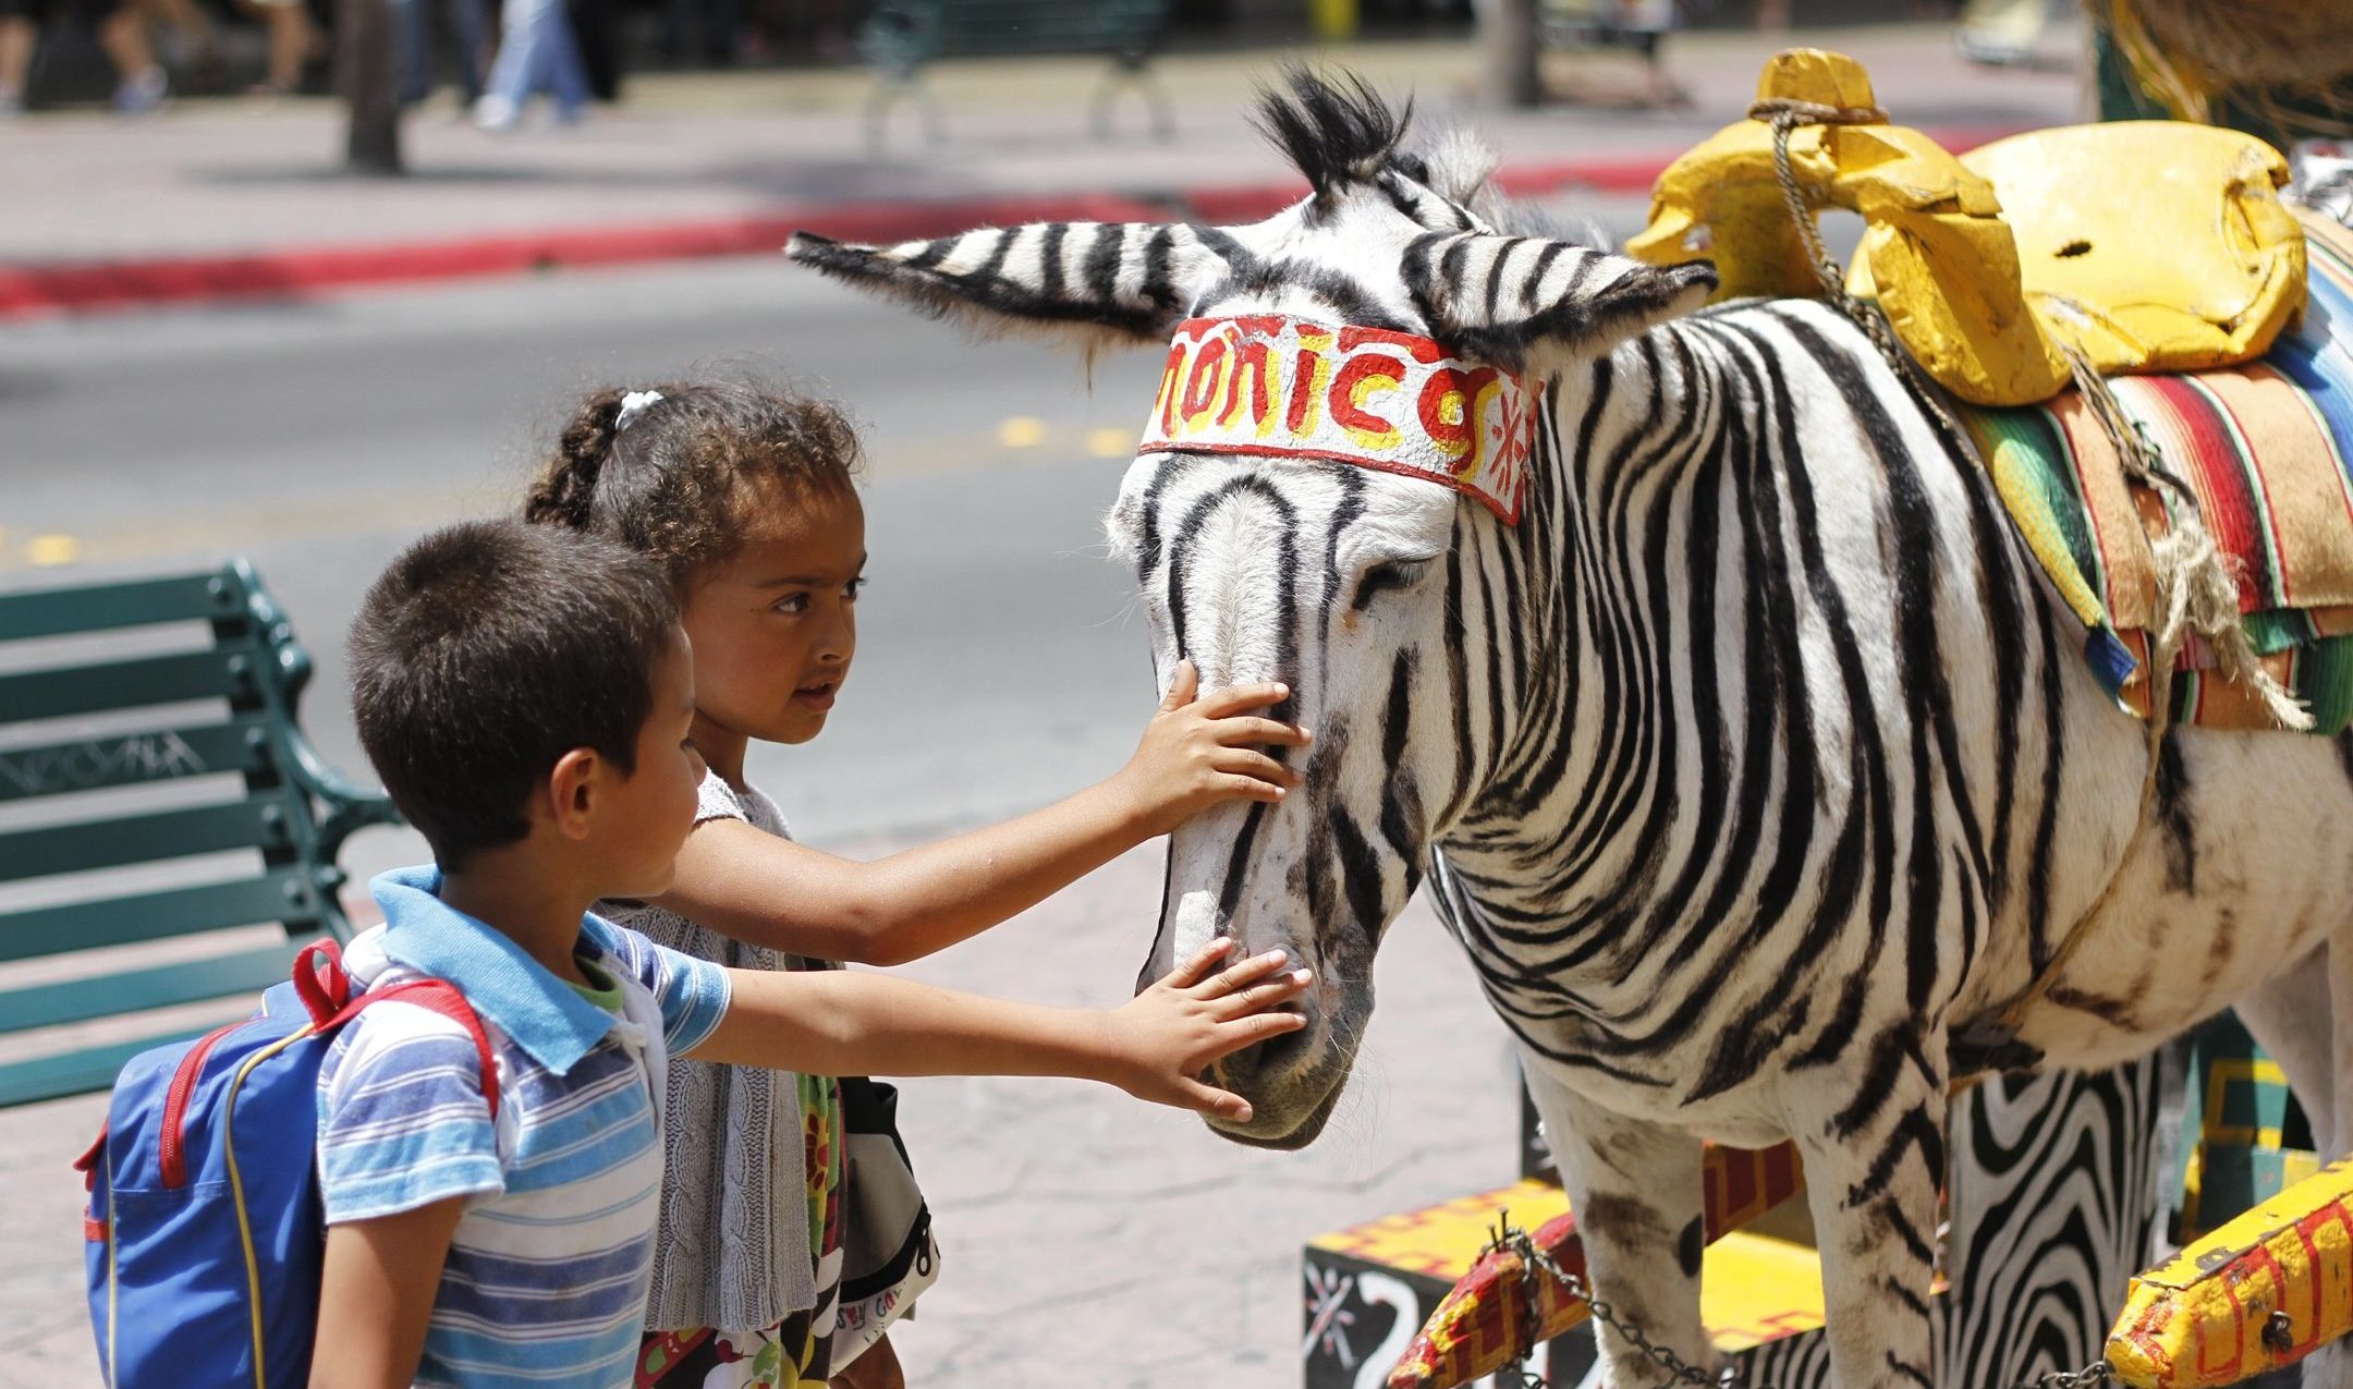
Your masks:
{"label": "donkey's front leg with bold black chevron stripes", "polygon": [[[1929,1278],[1944,1187],[1944,1038],[1904,1022],[1788,1097],[1821,1245],[1821,1297],[1840,1389],[1937,1389]],[[1868,1062],[1868,1064],[1861,1064]],[[1979,1387],[1967,1387],[1979,1389]]]}

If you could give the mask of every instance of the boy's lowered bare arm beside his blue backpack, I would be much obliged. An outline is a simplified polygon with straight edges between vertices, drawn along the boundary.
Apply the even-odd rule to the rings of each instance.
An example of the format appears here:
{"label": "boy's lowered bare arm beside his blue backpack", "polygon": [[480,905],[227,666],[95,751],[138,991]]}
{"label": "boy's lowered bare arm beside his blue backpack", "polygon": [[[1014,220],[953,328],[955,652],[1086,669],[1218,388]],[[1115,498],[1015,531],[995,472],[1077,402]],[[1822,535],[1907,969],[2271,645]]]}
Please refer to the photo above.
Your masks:
{"label": "boy's lowered bare arm beside his blue backpack", "polygon": [[466,1196],[327,1227],[311,1389],[407,1389]]}

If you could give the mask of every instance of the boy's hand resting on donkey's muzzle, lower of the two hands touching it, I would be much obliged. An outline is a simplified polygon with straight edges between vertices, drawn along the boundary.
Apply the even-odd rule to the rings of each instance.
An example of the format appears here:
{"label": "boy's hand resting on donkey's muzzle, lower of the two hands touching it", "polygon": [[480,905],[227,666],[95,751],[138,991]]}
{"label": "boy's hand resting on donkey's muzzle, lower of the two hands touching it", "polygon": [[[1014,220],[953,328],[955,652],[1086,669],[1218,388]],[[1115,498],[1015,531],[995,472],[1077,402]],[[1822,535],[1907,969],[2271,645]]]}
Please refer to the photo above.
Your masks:
{"label": "boy's hand resting on donkey's muzzle, lower of the two hands touching it", "polygon": [[1282,970],[1282,951],[1266,951],[1212,975],[1231,953],[1233,939],[1219,937],[1106,1015],[1106,1055],[1113,1059],[1106,1081],[1136,1099],[1249,1123],[1249,1102],[1205,1083],[1200,1074],[1247,1045],[1306,1026],[1299,1012],[1273,1008],[1297,998],[1311,975]]}

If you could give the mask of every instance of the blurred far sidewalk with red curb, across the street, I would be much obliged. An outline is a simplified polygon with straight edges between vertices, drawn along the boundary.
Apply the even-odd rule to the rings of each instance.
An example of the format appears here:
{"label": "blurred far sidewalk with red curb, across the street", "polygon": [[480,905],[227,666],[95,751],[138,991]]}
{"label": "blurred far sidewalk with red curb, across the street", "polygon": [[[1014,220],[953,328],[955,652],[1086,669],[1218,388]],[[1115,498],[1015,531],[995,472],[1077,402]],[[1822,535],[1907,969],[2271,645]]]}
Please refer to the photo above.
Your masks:
{"label": "blurred far sidewalk with red curb, across the street", "polygon": [[[9,198],[0,311],[9,275],[16,311],[26,311],[42,294],[24,290],[26,275],[54,278],[61,264],[92,261],[118,273],[118,297],[139,301],[744,254],[800,224],[915,235],[918,226],[1016,217],[1165,217],[1188,207],[1257,217],[1294,188],[1247,120],[1254,89],[1273,82],[1282,61],[1351,68],[1391,97],[1412,94],[1424,125],[1473,125],[1520,193],[1631,195],[1678,151],[1739,118],[1762,57],[1784,42],[1852,52],[1899,120],[1953,141],[2066,122],[2078,108],[2071,28],[2052,33],[2045,64],[1988,71],[1953,52],[1946,26],[1887,26],[1682,35],[1671,66],[1694,97],[1685,111],[1487,111],[1468,40],[1172,54],[1158,64],[1174,94],[1167,141],[1144,132],[1132,97],[1111,139],[1087,134],[1099,61],[944,64],[932,82],[948,144],[925,146],[913,111],[901,108],[880,158],[868,155],[861,125],[871,78],[854,68],[642,75],[624,106],[595,111],[576,129],[520,137],[482,134],[447,106],[428,106],[407,125],[407,179],[334,172],[341,111],[332,101],[186,101],[141,122],[33,115],[0,127],[0,188]],[[1595,101],[1633,87],[1624,59],[1548,61],[1555,87]],[[226,271],[221,257],[231,259]],[[106,301],[87,275],[38,283]]]}

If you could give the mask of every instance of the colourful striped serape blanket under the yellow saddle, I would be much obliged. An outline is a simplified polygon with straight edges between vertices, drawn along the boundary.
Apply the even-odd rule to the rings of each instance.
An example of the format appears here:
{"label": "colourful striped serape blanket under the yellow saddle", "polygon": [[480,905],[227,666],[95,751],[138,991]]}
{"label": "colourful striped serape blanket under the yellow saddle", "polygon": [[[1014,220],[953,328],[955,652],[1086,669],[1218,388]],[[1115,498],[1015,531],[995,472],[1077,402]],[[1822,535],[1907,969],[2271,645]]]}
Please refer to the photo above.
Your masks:
{"label": "colourful striped serape blanket under the yellow saddle", "polygon": [[[2184,478],[2233,560],[2247,638],[2313,711],[2353,723],[2353,233],[2299,212],[2311,297],[2259,363],[2111,377],[2125,414]],[[2073,391],[2024,410],[1962,410],[2009,518],[2085,624],[2085,657],[2148,716],[2155,567],[2148,537],[2179,501],[2125,480],[2099,417]],[[2174,662],[2174,723],[2278,727],[2264,702],[2191,638]]]}

